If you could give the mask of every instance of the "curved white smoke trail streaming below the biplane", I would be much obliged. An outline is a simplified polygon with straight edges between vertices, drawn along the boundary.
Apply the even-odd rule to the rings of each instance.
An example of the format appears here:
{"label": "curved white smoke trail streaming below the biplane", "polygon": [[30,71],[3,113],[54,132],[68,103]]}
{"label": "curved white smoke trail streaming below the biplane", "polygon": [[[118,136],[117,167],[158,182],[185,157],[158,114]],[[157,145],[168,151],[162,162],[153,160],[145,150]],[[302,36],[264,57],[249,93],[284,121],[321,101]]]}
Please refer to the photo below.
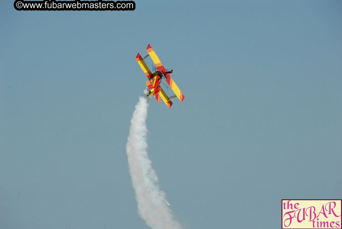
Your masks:
{"label": "curved white smoke trail streaming below the biplane", "polygon": [[131,120],[126,146],[128,166],[138,204],[138,214],[152,229],[181,229],[169,209],[165,193],[160,190],[158,178],[147,154],[148,98],[141,96]]}

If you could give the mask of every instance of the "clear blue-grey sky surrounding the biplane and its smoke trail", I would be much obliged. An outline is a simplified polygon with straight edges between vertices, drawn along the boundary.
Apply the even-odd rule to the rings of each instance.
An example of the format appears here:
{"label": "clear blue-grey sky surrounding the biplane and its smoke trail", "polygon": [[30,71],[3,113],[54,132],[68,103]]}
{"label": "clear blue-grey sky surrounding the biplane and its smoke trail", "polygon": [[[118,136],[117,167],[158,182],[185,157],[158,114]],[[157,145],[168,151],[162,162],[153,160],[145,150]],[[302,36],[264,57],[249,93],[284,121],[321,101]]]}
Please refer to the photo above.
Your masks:
{"label": "clear blue-grey sky surrounding the biplane and its smoke trail", "polygon": [[0,4],[0,227],[148,228],[128,172],[150,43],[185,95],[150,101],[149,155],[185,228],[277,228],[341,198],[340,1]]}

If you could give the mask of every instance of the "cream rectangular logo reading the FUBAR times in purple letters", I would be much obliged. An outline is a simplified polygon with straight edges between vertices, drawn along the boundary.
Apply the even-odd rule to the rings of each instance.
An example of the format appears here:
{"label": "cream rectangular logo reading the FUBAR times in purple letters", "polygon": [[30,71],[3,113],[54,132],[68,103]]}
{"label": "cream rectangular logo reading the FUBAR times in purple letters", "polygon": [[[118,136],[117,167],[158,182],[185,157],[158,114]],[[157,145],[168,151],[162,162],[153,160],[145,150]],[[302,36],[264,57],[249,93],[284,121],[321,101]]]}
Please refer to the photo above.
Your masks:
{"label": "cream rectangular logo reading the FUBAR times in purple letters", "polygon": [[342,200],[281,200],[281,229],[341,229]]}

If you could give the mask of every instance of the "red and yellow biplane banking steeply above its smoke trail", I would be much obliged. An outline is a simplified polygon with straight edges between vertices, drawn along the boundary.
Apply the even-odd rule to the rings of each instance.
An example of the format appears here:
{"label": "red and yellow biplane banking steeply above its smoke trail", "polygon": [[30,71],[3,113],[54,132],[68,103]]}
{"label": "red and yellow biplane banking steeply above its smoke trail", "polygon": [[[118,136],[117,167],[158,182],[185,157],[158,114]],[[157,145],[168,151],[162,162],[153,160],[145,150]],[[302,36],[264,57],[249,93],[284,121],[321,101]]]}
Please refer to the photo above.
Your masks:
{"label": "red and yellow biplane banking steeply above its smoke trail", "polygon": [[[166,106],[170,108],[172,106],[172,99],[174,98],[179,98],[181,102],[184,100],[184,95],[181,92],[181,90],[178,88],[177,84],[175,81],[170,77],[170,74],[173,73],[173,70],[167,71],[164,66],[161,64],[157,54],[149,44],[146,48],[148,54],[142,58],[140,53],[138,53],[136,60],[139,63],[141,69],[144,71],[145,75],[147,76],[148,80],[146,81],[146,85],[149,89],[149,95],[153,95],[156,100],[160,103],[160,98],[164,101]],[[145,63],[145,59],[148,58],[148,56],[151,57],[153,63],[156,66],[156,71],[152,73],[149,68],[147,67]],[[169,85],[169,88],[171,88],[174,92],[175,95],[172,95],[170,97],[167,96],[165,91],[161,88],[160,83],[161,80],[165,79],[166,83]]]}

